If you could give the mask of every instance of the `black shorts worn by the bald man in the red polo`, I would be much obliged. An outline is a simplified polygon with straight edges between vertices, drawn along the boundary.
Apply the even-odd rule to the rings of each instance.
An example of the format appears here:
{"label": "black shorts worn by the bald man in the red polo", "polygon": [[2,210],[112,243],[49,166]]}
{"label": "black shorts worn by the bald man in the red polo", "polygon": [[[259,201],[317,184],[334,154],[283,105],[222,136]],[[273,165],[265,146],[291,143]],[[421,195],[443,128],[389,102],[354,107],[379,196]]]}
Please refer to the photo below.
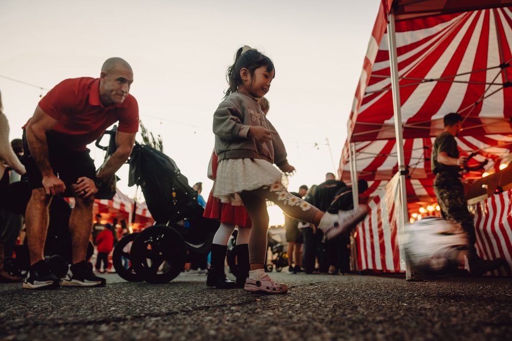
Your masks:
{"label": "black shorts worn by the bald man in the red polo", "polygon": [[[53,173],[66,185],[66,191],[63,196],[75,196],[71,185],[76,184],[79,177],[86,176],[92,179],[96,175],[94,162],[89,155],[90,151],[68,149],[66,146],[51,139],[48,135],[47,140],[50,166],[52,166]],[[42,175],[30,154],[25,131],[23,132],[23,149],[22,164],[27,170],[30,190],[43,188]]]}

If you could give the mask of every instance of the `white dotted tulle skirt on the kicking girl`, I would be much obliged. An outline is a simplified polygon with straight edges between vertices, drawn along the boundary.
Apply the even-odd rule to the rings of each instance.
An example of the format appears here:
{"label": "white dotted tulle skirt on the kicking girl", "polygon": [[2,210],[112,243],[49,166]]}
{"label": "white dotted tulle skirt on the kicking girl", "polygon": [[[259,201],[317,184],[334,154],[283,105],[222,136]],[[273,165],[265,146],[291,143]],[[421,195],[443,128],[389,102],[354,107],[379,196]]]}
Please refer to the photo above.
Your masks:
{"label": "white dotted tulle skirt on the kicking girl", "polygon": [[214,197],[233,206],[242,204],[238,193],[281,181],[282,173],[270,162],[251,158],[221,160],[217,168]]}

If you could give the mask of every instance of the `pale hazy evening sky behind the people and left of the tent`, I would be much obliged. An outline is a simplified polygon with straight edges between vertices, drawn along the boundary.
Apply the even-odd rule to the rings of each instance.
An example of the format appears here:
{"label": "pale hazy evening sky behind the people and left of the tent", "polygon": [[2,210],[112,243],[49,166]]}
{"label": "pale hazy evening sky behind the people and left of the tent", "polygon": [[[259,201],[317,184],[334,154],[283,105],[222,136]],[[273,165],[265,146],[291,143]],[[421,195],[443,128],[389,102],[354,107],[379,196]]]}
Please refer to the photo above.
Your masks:
{"label": "pale hazy evening sky behind the people and left of the tent", "polygon": [[[134,71],[130,93],[142,123],[162,136],[190,186],[202,181],[206,199],[212,115],[226,69],[247,44],[275,65],[268,119],[296,168],[289,190],[320,184],[339,164],[378,7],[379,0],[0,0],[0,92],[10,140],[21,137],[39,95],[66,78],[99,77],[105,59],[121,57]],[[90,149],[99,166],[102,151]],[[127,168],[118,172],[118,188],[133,196]]]}

